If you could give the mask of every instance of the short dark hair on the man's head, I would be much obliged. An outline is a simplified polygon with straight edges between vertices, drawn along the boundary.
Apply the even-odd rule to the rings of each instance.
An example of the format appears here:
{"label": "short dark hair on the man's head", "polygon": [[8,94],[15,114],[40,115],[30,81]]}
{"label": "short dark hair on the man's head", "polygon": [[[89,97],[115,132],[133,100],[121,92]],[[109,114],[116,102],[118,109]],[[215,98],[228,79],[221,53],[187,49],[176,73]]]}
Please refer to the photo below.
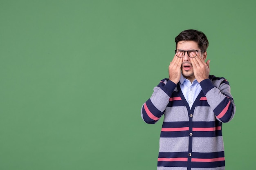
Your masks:
{"label": "short dark hair on the man's head", "polygon": [[207,40],[206,35],[202,31],[194,30],[194,29],[188,29],[185,31],[182,31],[176,38],[176,49],[177,49],[177,43],[179,41],[195,41],[198,43],[198,47],[200,50],[206,51],[209,42]]}

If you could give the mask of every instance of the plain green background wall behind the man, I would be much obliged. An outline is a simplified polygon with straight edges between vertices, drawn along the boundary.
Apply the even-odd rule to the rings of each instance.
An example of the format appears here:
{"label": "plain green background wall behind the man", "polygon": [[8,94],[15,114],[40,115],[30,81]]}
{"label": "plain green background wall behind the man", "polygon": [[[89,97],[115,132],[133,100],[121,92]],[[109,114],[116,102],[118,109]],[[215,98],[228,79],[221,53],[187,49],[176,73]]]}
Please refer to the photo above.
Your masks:
{"label": "plain green background wall behind the man", "polygon": [[236,104],[227,170],[255,167],[254,0],[0,0],[0,169],[155,170],[161,121],[142,104],[174,38],[209,39]]}

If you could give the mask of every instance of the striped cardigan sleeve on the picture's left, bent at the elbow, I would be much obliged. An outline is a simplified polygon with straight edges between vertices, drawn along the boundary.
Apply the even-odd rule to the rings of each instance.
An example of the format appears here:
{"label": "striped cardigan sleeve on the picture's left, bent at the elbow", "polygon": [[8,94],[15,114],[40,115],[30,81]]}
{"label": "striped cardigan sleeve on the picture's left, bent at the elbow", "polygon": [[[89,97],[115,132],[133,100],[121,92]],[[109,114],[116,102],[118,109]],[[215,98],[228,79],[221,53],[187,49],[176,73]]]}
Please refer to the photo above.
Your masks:
{"label": "striped cardigan sleeve on the picture's left, bent at the elbow", "polygon": [[168,79],[160,81],[154,92],[141,108],[141,117],[148,124],[155,124],[164,114],[176,84]]}

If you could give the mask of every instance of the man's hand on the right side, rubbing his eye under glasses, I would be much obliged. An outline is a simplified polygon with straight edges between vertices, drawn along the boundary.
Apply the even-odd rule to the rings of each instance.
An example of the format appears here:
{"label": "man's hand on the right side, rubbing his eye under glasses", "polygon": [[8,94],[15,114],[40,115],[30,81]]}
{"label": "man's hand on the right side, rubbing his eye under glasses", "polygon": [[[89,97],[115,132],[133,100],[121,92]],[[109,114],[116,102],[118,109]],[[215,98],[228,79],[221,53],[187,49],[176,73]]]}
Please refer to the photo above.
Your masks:
{"label": "man's hand on the right side, rubbing his eye under glasses", "polygon": [[204,79],[209,78],[210,73],[210,61],[207,60],[205,63],[204,60],[200,56],[196,56],[194,58],[190,58],[191,64],[193,66],[193,71],[195,75],[195,79],[200,83]]}

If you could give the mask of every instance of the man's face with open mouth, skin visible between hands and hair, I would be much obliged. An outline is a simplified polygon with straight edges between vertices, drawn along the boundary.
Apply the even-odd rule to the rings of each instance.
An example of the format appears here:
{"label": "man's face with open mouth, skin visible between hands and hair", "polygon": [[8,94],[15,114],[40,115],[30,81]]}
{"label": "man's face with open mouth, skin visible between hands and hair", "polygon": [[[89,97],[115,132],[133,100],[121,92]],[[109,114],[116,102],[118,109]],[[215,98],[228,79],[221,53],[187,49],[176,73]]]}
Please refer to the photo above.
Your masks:
{"label": "man's face with open mouth, skin visible between hands and hair", "polygon": [[[195,41],[179,41],[177,43],[177,49],[184,50],[184,51],[188,51],[188,50],[199,50],[200,51],[201,50],[198,47],[198,43]],[[191,55],[193,55],[193,54],[191,54]],[[206,60],[207,53],[206,52],[204,52],[204,53],[198,52],[196,57],[201,57],[201,58],[203,58],[203,60]],[[195,79],[193,66],[191,64],[191,57],[188,56],[187,52],[185,53],[182,60],[183,60],[182,66],[181,66],[182,75],[186,79],[193,81]]]}

